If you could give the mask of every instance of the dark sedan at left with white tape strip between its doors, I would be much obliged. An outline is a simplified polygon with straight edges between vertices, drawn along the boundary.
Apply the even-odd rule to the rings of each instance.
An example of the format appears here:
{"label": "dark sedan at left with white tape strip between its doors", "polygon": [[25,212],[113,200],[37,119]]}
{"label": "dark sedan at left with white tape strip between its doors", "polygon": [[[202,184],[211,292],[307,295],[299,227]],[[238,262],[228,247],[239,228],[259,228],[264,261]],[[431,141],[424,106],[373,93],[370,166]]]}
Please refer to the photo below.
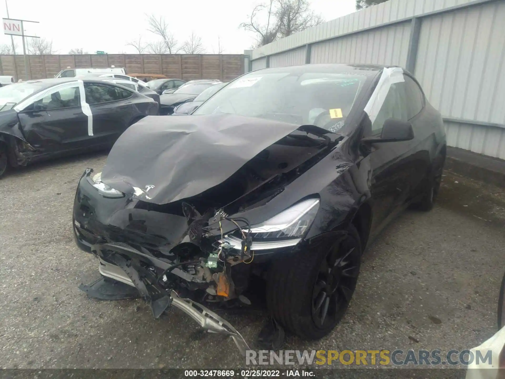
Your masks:
{"label": "dark sedan at left with white tape strip between its doors", "polygon": [[0,176],[7,167],[111,147],[158,104],[103,80],[29,80],[0,88]]}

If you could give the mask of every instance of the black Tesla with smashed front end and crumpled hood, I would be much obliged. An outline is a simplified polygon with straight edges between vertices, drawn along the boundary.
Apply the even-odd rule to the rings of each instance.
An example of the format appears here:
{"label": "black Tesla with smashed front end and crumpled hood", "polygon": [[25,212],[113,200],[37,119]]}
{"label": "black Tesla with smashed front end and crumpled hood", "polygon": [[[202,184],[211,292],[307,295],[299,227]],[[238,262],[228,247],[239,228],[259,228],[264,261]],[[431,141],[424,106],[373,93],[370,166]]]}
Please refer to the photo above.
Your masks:
{"label": "black Tesla with smashed front end and crumpled hood", "polygon": [[127,129],[80,179],[76,241],[155,317],[176,306],[243,352],[201,303],[247,302],[258,275],[275,324],[319,339],[346,311],[367,244],[403,208],[432,207],[444,160],[440,113],[400,67],[254,71],[193,115]]}

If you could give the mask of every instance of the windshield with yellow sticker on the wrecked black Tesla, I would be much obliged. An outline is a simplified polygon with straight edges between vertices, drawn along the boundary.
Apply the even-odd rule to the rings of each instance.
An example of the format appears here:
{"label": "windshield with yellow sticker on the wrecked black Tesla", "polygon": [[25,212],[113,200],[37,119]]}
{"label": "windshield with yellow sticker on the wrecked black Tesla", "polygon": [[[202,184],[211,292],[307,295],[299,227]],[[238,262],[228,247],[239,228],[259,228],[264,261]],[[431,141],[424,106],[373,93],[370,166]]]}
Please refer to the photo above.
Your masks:
{"label": "windshield with yellow sticker on the wrecked black Tesla", "polygon": [[193,115],[231,113],[338,131],[366,76],[324,72],[255,72],[215,94]]}

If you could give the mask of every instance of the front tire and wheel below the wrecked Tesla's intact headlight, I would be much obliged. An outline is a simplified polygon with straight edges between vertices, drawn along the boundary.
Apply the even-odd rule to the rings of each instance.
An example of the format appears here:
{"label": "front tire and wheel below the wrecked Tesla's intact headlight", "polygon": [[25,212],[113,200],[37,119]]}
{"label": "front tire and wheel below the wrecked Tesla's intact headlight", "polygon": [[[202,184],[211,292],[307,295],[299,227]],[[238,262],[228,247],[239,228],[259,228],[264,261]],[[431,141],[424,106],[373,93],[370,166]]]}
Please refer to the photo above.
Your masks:
{"label": "front tire and wheel below the wrecked Tesla's intact headlight", "polygon": [[343,235],[272,262],[267,279],[271,315],[302,339],[328,335],[356,288],[361,249],[358,231],[350,226]]}

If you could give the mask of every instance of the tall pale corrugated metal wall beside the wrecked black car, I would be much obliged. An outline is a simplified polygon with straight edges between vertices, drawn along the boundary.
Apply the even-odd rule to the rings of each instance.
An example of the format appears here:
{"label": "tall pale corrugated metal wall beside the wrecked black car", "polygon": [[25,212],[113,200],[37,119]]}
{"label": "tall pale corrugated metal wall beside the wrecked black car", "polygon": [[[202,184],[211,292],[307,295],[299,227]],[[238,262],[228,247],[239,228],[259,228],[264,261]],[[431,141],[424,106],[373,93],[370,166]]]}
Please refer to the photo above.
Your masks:
{"label": "tall pale corrugated metal wall beside the wrecked black car", "polygon": [[304,62],[405,67],[442,113],[449,146],[505,159],[504,0],[389,0],[250,57],[253,69]]}

